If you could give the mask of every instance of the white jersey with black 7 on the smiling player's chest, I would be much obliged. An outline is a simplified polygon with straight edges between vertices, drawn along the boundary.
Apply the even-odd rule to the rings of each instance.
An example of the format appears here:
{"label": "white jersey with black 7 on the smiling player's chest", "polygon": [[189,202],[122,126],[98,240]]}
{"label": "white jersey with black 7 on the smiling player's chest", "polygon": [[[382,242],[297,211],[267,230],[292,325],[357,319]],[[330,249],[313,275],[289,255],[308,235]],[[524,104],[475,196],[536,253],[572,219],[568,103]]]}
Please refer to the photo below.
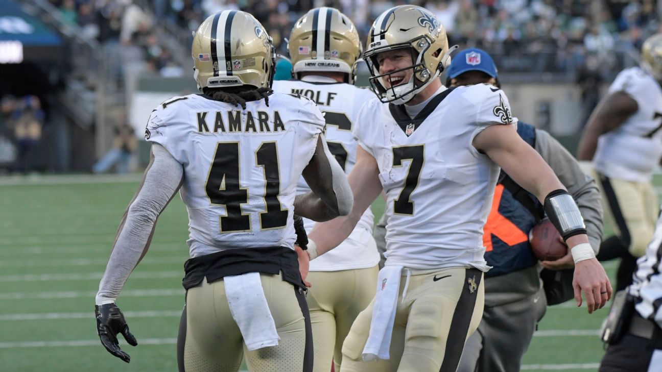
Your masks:
{"label": "white jersey with black 7 on the smiling player's chest", "polygon": [[483,226],[500,168],[472,142],[488,126],[514,125],[506,95],[486,84],[449,89],[413,119],[373,99],[358,122],[387,195],[386,265],[487,271]]}

